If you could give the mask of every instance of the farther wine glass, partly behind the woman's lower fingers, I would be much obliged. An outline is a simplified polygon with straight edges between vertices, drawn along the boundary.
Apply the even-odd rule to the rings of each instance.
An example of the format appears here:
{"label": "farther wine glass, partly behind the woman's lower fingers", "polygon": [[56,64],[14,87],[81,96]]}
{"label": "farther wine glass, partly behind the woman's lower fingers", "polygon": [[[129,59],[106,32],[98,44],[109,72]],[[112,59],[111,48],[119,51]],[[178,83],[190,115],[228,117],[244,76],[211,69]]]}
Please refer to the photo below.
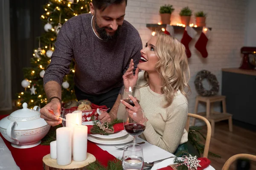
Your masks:
{"label": "farther wine glass, partly behind the woman's lower fingers", "polygon": [[130,105],[134,106],[133,101],[129,98],[128,95],[133,96],[138,103],[140,103],[140,90],[138,86],[122,86],[121,90],[121,99]]}

